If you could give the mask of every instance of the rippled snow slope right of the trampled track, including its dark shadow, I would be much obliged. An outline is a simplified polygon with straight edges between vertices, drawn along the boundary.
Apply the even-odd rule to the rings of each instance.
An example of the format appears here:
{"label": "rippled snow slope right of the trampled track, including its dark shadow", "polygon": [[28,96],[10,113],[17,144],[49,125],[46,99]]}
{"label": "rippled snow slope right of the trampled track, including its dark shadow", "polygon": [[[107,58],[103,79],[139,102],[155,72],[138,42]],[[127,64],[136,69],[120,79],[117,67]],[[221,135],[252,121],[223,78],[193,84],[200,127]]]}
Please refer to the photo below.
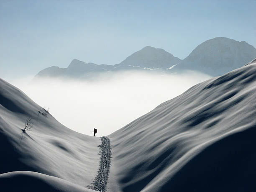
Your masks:
{"label": "rippled snow slope right of the trampled track, including its dark shadow", "polygon": [[110,134],[109,191],[256,191],[255,137],[252,62]]}

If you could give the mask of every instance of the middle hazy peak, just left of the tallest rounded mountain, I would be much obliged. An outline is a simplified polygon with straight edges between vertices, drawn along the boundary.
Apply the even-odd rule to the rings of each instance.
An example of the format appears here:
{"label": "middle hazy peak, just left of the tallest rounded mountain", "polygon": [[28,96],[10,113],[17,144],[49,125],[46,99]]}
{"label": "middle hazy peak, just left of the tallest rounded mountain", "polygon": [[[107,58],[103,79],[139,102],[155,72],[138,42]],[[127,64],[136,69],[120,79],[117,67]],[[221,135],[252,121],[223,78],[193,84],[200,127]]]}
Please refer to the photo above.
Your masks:
{"label": "middle hazy peak, just left of the tallest rounded mountain", "polygon": [[174,57],[172,54],[164,51],[164,49],[156,49],[146,46],[128,56],[120,64],[115,65],[115,69],[126,69],[137,67],[141,69],[161,69],[166,70],[173,65],[179,63],[181,59]]}

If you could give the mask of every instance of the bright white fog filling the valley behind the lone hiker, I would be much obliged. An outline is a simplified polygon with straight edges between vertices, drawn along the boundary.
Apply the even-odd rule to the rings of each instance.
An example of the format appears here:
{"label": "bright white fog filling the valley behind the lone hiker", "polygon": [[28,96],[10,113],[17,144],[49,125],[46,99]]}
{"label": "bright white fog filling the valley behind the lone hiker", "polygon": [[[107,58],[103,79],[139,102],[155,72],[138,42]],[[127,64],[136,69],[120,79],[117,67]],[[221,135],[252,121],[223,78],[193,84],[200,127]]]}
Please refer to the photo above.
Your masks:
{"label": "bright white fog filling the valley behind the lone hiker", "polygon": [[42,107],[50,108],[68,128],[89,136],[97,128],[96,136],[107,136],[209,78],[195,72],[120,72],[94,81],[42,79],[28,83],[18,79],[11,83]]}

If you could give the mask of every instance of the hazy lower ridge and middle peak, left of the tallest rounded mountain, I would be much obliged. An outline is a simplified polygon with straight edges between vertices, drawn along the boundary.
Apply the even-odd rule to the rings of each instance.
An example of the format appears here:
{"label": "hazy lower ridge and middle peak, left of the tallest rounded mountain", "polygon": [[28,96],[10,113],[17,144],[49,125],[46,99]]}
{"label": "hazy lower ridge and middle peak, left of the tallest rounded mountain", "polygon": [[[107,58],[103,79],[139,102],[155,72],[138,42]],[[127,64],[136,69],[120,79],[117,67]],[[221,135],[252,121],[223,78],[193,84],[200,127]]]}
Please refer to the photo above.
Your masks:
{"label": "hazy lower ridge and middle peak, left of the tallest rounded mountain", "polygon": [[85,63],[74,59],[67,68],[48,67],[40,71],[36,77],[72,77],[88,78],[104,72],[115,72],[120,70],[160,70],[165,71],[169,67],[181,61],[164,49],[156,49],[146,46],[140,51],[128,56],[120,64],[115,65],[97,65],[94,63]]}

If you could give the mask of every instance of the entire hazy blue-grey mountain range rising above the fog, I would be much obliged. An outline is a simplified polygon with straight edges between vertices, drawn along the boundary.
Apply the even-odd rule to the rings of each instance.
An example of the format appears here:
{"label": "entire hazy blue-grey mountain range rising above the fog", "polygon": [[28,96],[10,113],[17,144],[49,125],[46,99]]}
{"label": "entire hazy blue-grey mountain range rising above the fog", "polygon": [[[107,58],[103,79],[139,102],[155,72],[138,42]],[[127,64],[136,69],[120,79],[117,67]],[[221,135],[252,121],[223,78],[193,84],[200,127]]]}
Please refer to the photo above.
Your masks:
{"label": "entire hazy blue-grey mountain range rising above the fog", "polygon": [[179,73],[193,70],[218,76],[242,67],[256,57],[256,49],[245,41],[216,37],[197,46],[189,56],[181,60],[164,49],[146,46],[128,56],[120,64],[97,65],[74,59],[69,67],[49,67],[36,77],[90,78],[104,72],[120,70],[144,70]]}

